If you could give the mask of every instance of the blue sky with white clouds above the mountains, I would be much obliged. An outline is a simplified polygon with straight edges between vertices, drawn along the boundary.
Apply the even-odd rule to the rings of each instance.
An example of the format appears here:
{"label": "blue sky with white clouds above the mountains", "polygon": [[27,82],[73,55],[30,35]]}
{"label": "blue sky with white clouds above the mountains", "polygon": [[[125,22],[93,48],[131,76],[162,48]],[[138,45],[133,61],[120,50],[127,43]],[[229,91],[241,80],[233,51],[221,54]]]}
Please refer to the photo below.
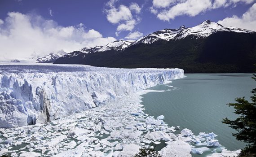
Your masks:
{"label": "blue sky with white clouds above the mountains", "polygon": [[136,40],[205,20],[256,31],[256,0],[0,0],[0,61]]}

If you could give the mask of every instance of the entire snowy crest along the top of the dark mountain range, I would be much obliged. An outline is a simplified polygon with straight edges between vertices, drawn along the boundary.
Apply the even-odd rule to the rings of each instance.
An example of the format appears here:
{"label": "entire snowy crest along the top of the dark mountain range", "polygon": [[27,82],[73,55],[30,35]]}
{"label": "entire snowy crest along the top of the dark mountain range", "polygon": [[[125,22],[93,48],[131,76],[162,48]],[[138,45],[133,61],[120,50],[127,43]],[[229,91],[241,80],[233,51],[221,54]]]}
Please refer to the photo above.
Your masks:
{"label": "entire snowy crest along the top of the dark mountain range", "polygon": [[[124,41],[124,40],[116,40],[112,43],[109,43],[105,46],[96,46],[96,47],[84,47],[81,48],[80,52],[83,53],[94,53],[94,52],[106,52],[110,50],[114,51],[124,51],[126,48],[136,45],[136,44],[152,44],[159,40],[166,40],[170,41],[172,39],[184,39],[185,37],[189,35],[193,35],[196,38],[206,38],[209,35],[216,33],[218,31],[233,31],[237,33],[253,33],[253,31],[235,28],[235,27],[224,27],[219,23],[212,22],[209,20],[206,20],[199,24],[198,26],[194,26],[191,28],[186,28],[185,26],[180,26],[180,28],[177,29],[163,29],[160,31],[153,32],[152,34],[146,35],[144,37],[141,37],[140,39],[137,39],[134,42],[130,41]],[[75,51],[74,53],[71,52],[69,55],[66,55],[66,57],[72,57],[77,56],[79,54],[78,51]]]}

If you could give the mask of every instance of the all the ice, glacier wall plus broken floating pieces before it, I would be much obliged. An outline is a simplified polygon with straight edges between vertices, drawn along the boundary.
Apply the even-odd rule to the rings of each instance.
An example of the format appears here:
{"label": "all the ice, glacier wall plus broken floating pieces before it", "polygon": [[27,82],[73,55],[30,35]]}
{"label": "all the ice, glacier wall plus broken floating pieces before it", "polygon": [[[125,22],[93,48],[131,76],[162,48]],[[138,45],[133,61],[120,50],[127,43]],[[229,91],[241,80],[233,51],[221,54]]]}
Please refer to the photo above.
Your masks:
{"label": "all the ice, glacier wall plus broken floating pieces before it", "polygon": [[141,95],[155,92],[145,89],[181,77],[181,69],[0,65],[0,155],[132,157],[154,146],[161,157],[237,156],[214,133],[178,131],[143,112]]}

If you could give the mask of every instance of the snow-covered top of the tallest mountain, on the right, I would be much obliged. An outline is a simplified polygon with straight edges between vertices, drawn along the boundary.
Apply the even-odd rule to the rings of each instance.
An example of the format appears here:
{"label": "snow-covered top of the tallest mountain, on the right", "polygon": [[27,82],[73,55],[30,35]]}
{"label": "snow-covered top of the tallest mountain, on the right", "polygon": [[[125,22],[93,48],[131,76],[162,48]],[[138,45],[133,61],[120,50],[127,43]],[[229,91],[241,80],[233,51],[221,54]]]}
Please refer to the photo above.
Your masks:
{"label": "snow-covered top of the tallest mountain, on the right", "polygon": [[159,40],[166,40],[169,41],[171,39],[184,39],[185,37],[189,35],[193,35],[197,38],[206,38],[209,35],[216,33],[218,31],[231,31],[231,32],[237,32],[237,33],[253,33],[253,31],[245,30],[245,29],[240,29],[240,28],[235,28],[235,27],[224,27],[219,23],[212,22],[209,20],[206,20],[202,22],[201,24],[191,27],[191,28],[186,28],[185,26],[181,26],[178,29],[163,29],[160,31],[156,31],[152,34],[146,35],[134,43],[139,44],[152,44],[156,41]]}

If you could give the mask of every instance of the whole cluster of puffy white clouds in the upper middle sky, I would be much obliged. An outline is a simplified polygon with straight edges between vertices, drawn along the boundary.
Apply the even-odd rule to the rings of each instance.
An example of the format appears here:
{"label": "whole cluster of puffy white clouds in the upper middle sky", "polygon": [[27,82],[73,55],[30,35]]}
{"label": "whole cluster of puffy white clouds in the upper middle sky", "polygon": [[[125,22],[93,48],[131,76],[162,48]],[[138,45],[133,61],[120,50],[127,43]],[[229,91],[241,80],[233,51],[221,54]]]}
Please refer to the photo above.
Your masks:
{"label": "whole cluster of puffy white clouds in the upper middle sky", "polygon": [[137,3],[131,3],[129,7],[121,4],[116,7],[117,0],[110,0],[106,3],[106,13],[107,20],[117,25],[115,35],[119,36],[121,31],[132,31],[135,25],[140,21],[137,16],[141,12],[141,8]]}

